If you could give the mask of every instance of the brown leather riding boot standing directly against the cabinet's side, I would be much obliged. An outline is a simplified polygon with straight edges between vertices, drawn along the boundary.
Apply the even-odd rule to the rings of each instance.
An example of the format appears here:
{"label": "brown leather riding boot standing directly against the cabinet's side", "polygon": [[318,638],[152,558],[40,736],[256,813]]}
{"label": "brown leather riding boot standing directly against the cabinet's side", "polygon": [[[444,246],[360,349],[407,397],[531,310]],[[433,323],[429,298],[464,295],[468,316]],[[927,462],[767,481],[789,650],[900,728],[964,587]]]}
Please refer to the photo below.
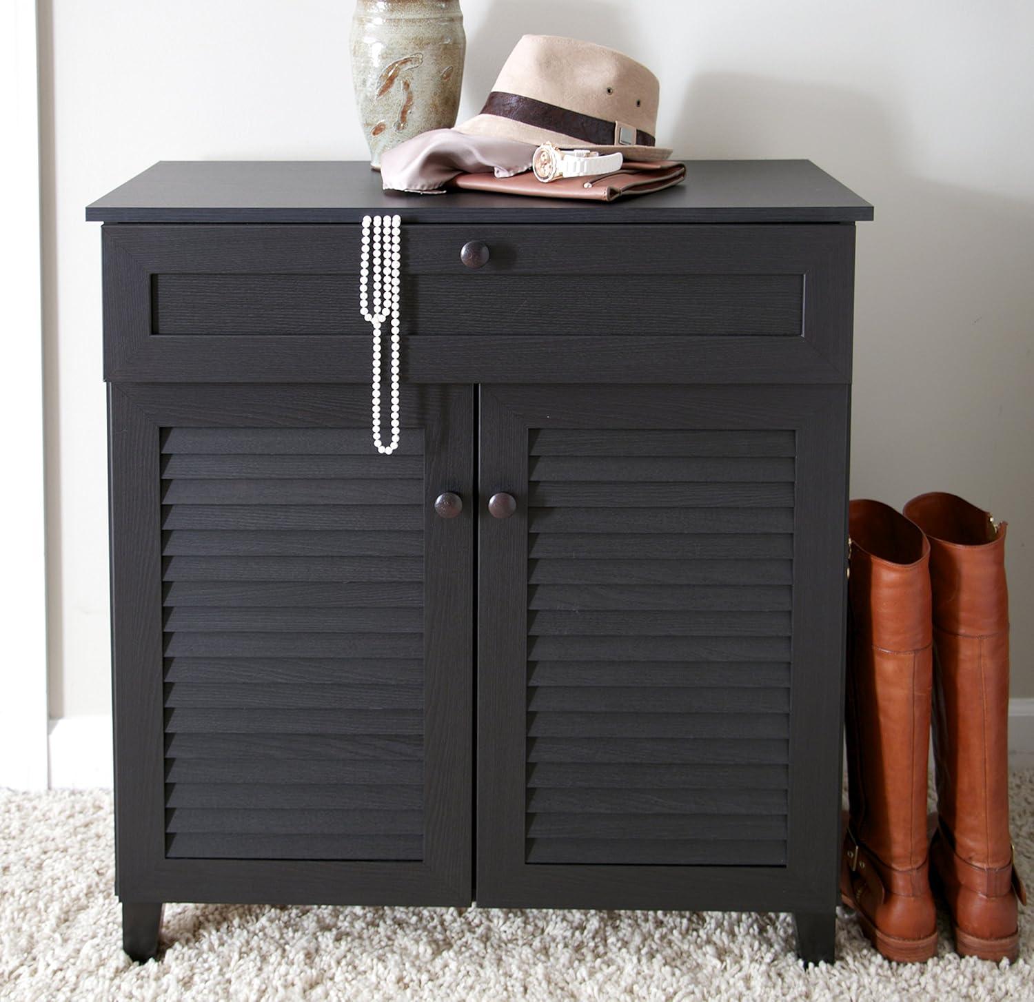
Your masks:
{"label": "brown leather riding boot standing directly against the cabinet's side", "polygon": [[930,545],[880,502],[851,502],[850,526],[841,898],[885,958],[925,961],[937,952],[926,861]]}

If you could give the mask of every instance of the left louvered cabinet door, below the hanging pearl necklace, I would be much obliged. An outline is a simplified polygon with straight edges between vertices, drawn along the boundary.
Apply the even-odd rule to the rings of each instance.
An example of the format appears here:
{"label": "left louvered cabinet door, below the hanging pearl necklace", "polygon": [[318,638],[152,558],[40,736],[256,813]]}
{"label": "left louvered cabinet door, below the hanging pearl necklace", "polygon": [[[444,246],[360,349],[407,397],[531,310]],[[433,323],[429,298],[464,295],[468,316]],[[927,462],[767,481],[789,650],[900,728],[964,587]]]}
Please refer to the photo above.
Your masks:
{"label": "left louvered cabinet door, below the hanging pearl necklace", "polygon": [[123,901],[469,904],[473,391],[110,392]]}

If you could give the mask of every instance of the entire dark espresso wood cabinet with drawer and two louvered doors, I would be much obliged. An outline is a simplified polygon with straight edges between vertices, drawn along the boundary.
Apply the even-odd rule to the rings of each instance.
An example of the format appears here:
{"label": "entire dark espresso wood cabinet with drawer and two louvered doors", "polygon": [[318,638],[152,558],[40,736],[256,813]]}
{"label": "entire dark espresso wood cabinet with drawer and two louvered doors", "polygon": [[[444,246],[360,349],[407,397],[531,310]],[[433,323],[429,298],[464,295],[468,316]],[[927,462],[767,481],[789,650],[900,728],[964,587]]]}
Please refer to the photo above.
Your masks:
{"label": "entire dark espresso wood cabinet with drawer and two louvered doors", "polygon": [[87,218],[130,955],[170,901],[477,901],[791,911],[832,959],[866,203],[808,161],[611,205],[162,162]]}

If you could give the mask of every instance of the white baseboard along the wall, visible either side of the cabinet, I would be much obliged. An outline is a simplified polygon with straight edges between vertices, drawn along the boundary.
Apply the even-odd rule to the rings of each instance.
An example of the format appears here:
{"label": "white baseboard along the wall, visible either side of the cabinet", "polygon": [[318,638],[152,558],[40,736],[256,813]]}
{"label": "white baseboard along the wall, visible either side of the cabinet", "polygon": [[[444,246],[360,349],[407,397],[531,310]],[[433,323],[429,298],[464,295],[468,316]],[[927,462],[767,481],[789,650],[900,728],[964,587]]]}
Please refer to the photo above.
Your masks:
{"label": "white baseboard along the wall, visible either side of the cabinet", "polygon": [[[52,720],[50,752],[51,789],[111,787],[110,717]],[[1034,699],[1009,700],[1009,754],[1015,764],[1034,764]]]}

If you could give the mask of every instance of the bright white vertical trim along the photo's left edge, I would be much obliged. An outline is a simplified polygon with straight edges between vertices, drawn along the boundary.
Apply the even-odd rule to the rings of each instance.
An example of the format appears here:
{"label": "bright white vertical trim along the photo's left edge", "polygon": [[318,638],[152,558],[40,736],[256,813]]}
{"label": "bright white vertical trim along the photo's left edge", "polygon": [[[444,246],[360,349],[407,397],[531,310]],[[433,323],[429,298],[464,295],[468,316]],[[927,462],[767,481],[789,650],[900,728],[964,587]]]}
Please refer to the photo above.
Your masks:
{"label": "bright white vertical trim along the photo's left edge", "polygon": [[[6,528],[0,574],[0,786],[45,788],[47,593],[43,578],[43,393],[39,259],[36,11],[0,0],[0,242],[6,378],[0,393]],[[11,155],[13,152],[13,155]]]}

